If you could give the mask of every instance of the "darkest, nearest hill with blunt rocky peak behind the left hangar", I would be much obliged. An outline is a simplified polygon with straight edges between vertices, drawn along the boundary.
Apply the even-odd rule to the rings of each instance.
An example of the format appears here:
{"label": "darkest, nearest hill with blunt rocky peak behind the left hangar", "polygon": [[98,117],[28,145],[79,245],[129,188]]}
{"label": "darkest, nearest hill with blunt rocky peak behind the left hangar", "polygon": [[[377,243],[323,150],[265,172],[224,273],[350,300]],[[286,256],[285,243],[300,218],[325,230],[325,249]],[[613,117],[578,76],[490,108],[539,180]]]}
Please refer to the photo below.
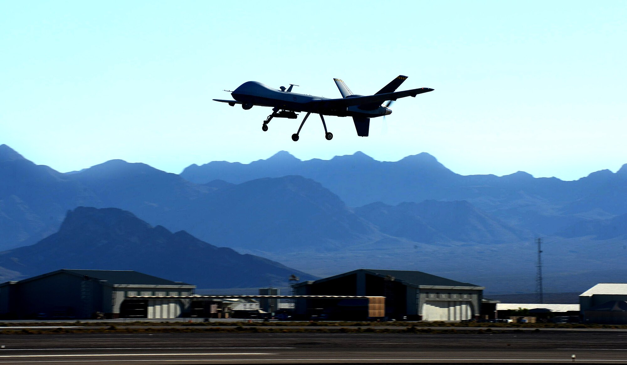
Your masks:
{"label": "darkest, nearest hill with blunt rocky peak behind the left hangar", "polygon": [[199,288],[285,286],[290,274],[314,279],[278,262],[213,246],[185,231],[152,227],[122,209],[93,207],[69,211],[58,232],[32,246],[0,253],[0,266],[22,277],[63,267],[136,270]]}

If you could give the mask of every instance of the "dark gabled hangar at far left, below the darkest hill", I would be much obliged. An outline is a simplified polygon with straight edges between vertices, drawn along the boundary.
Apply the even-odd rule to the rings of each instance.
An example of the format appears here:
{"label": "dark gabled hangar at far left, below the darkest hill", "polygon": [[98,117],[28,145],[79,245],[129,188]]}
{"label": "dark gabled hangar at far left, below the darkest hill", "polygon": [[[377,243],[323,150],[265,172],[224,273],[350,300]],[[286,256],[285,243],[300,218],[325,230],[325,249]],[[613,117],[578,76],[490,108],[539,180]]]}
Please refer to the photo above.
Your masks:
{"label": "dark gabled hangar at far left, below the darkest hill", "polygon": [[137,271],[61,269],[0,284],[0,316],[28,318],[174,318],[190,311],[181,299],[132,296],[189,296],[196,286]]}

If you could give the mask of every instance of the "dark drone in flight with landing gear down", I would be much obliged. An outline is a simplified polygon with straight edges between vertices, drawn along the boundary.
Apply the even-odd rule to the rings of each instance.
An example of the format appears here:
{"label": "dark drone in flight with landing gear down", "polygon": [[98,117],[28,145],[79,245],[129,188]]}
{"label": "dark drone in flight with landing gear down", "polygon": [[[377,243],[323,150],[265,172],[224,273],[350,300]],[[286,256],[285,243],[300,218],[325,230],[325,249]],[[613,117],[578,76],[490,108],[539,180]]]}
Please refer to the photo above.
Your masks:
{"label": "dark drone in flight with landing gear down", "polygon": [[[272,118],[296,119],[301,112],[307,112],[303,118],[297,133],[292,134],[292,141],[298,141],[298,134],[303,124],[307,121],[309,114],[320,114],[322,126],[324,126],[325,138],[328,140],[333,138],[333,134],[327,131],[327,124],[324,123],[324,116],[350,116],[355,123],[357,136],[367,137],[370,129],[370,118],[387,116],[392,114],[389,106],[393,101],[407,96],[416,97],[418,94],[433,91],[429,88],[411,89],[406,91],[396,91],[399,86],[407,79],[407,76],[399,75],[389,84],[377,91],[374,95],[363,96],[353,94],[352,91],[340,79],[334,79],[337,88],[342,94],[342,99],[322,98],[320,96],[312,96],[305,94],[292,93],[294,84],[290,84],[290,88],[285,89],[281,86],[280,90],[270,88],[256,81],[248,81],[243,83],[231,92],[231,96],[235,100],[213,99],[221,103],[228,103],[230,106],[241,104],[241,108],[248,110],[253,106],[269,106],[272,108],[272,114],[263,121],[261,129],[265,132],[268,130],[268,123]],[[384,101],[387,101],[386,104]]]}

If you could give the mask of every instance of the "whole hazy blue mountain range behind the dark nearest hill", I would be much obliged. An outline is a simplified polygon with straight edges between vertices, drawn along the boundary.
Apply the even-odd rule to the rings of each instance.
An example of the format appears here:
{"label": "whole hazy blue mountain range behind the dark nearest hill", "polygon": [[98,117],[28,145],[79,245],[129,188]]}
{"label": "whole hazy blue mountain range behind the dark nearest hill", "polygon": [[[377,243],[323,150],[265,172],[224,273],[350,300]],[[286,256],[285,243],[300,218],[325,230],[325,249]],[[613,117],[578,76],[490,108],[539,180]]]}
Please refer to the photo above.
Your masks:
{"label": "whole hazy blue mountain range behind the dark nearest hill", "polygon": [[[626,166],[561,181],[522,172],[461,176],[426,153],[389,163],[362,153],[300,161],[283,151],[250,164],[192,165],[180,175],[122,160],[63,174],[2,145],[0,247],[40,241],[76,207],[117,207],[318,276],[376,259],[383,268],[529,292],[534,237],[543,236],[551,242],[544,251],[552,290],[577,291],[623,267],[626,180]],[[579,286],[572,276],[582,278]]]}

